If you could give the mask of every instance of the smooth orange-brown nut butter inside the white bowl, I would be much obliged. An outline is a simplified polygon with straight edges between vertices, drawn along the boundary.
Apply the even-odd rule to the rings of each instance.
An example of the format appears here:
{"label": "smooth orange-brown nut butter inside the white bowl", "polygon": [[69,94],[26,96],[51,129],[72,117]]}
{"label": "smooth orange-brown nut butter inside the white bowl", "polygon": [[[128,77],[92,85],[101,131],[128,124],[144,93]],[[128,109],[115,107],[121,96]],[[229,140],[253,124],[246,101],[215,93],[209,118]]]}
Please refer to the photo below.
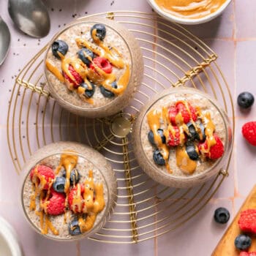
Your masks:
{"label": "smooth orange-brown nut butter inside the white bowl", "polygon": [[226,0],[154,0],[165,12],[178,18],[203,18],[219,10]]}

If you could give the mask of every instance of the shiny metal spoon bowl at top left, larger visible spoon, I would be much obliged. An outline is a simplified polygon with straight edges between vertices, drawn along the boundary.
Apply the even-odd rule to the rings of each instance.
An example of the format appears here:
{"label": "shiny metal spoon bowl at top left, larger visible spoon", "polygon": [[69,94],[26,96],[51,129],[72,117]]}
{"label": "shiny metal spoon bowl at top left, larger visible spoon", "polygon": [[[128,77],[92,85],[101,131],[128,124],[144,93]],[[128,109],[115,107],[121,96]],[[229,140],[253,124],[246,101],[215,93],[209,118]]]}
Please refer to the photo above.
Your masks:
{"label": "shiny metal spoon bowl at top left, larger visible spoon", "polygon": [[41,0],[9,0],[8,11],[18,28],[31,37],[45,37],[50,18]]}

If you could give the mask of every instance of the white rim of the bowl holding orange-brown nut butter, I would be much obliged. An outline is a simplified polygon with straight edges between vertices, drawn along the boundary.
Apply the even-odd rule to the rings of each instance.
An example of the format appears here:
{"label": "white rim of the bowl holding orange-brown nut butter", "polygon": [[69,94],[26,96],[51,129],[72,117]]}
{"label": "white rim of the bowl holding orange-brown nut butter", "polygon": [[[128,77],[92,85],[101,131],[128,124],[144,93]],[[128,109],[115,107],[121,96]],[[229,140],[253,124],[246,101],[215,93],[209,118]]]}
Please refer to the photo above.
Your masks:
{"label": "white rim of the bowl holding orange-brown nut butter", "polygon": [[202,18],[179,18],[162,10],[162,8],[159,7],[159,5],[154,0],[147,1],[160,16],[166,18],[167,20],[186,25],[197,25],[201,23],[206,23],[210,20],[213,20],[214,18],[217,18],[217,16],[219,16],[225,10],[227,5],[230,4],[232,0],[226,0],[225,3],[222,4],[222,6],[216,12],[212,12],[210,15],[206,15]]}

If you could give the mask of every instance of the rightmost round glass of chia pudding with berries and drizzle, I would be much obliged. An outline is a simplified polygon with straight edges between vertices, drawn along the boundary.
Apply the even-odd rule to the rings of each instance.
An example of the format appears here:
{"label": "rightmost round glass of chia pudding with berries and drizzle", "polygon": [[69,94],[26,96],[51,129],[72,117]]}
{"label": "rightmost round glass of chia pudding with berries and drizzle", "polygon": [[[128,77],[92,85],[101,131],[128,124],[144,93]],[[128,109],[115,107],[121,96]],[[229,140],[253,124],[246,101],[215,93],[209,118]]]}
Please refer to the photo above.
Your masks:
{"label": "rightmost round glass of chia pudding with berries and drizzle", "polygon": [[224,166],[232,142],[224,110],[207,94],[188,88],[167,89],[151,99],[132,133],[140,166],[169,187],[211,178]]}

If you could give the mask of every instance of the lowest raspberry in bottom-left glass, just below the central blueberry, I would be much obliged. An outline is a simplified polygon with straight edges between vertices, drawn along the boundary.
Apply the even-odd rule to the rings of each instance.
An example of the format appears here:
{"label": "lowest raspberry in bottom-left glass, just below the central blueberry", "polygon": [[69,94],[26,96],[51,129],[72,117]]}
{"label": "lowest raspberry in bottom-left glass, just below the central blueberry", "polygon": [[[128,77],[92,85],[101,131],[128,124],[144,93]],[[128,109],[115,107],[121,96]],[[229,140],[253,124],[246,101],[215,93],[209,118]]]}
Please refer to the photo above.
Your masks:
{"label": "lowest raspberry in bottom-left glass, just below the central blueberry", "polygon": [[52,197],[47,202],[47,214],[59,215],[64,214],[66,196],[63,193],[59,193],[51,190]]}

